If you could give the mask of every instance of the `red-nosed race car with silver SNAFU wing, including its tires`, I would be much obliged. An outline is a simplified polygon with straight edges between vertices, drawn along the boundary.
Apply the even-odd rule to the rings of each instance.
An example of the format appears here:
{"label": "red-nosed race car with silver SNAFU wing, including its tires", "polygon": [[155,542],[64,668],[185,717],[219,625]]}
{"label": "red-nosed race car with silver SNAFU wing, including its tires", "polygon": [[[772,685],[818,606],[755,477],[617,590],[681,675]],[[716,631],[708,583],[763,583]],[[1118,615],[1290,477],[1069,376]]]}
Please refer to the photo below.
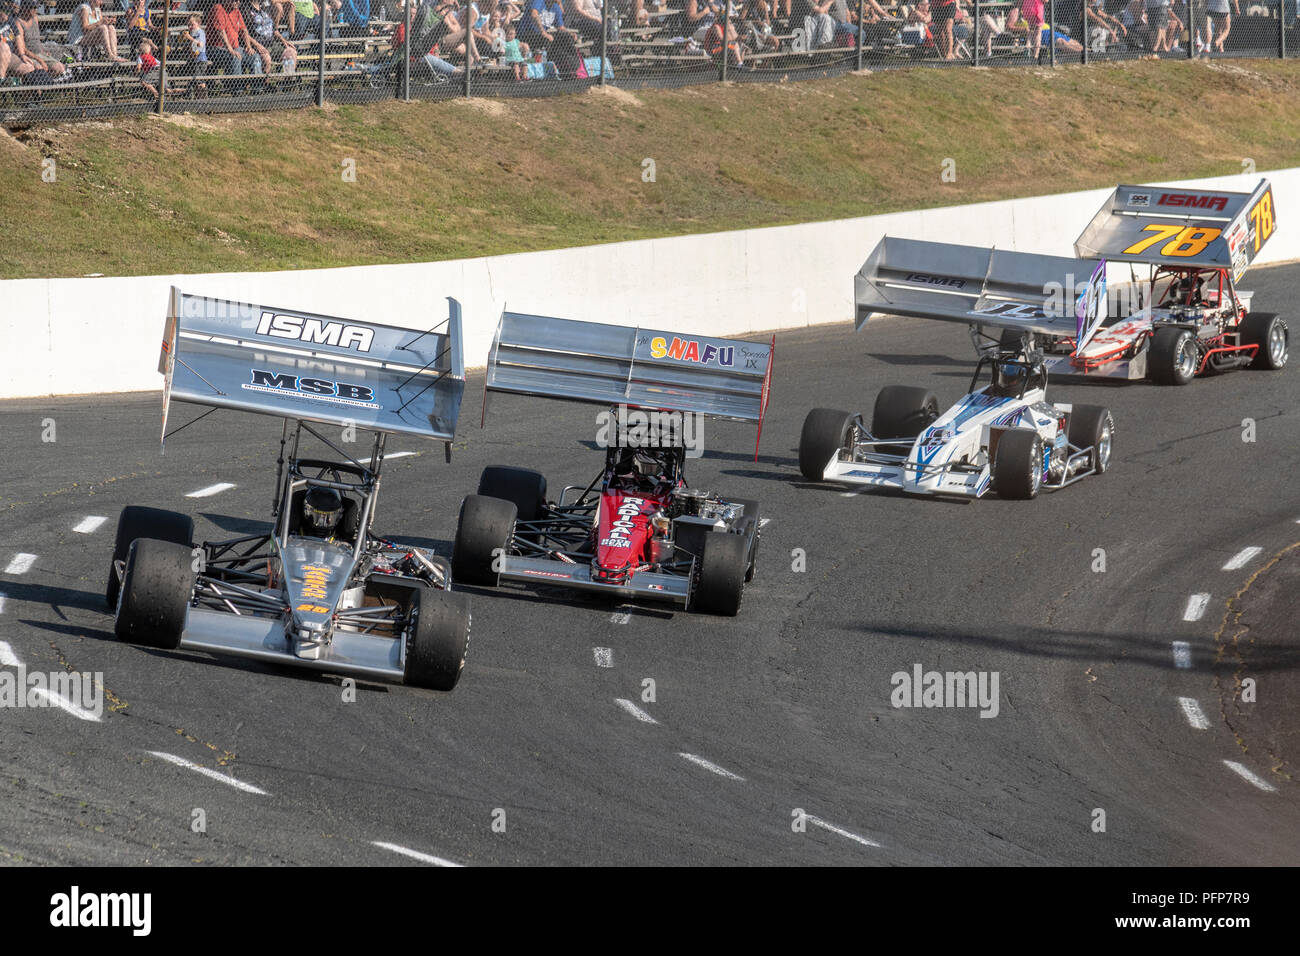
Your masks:
{"label": "red-nosed race car with silver SNAFU wing, including its tires", "polygon": [[754,343],[504,313],[486,390],[607,406],[604,468],[555,499],[540,472],[485,468],[460,509],[456,579],[736,614],[754,578],[758,502],[688,486],[685,462],[702,416],[762,431],[774,347],[775,337]]}

